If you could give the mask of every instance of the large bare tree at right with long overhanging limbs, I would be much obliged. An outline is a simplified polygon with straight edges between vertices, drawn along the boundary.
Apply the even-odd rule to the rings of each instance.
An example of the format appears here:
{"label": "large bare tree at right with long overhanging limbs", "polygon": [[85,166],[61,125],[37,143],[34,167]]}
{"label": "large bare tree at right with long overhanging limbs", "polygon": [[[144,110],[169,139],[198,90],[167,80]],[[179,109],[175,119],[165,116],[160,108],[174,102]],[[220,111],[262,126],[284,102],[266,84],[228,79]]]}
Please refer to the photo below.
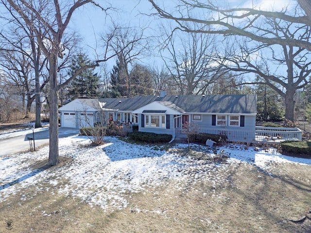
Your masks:
{"label": "large bare tree at right with long overhanging limbs", "polygon": [[[224,35],[224,38],[232,36],[241,36],[247,42],[245,48],[258,42],[258,47],[253,51],[242,51],[238,54],[241,59],[231,60],[236,67],[230,67],[232,71],[254,72],[263,77],[267,82],[270,80],[280,84],[285,91],[273,87],[285,99],[286,111],[285,117],[294,120],[294,93],[302,88],[308,82],[310,55],[306,51],[311,51],[311,7],[307,0],[297,0],[294,9],[284,6],[282,11],[265,11],[258,8],[232,8],[219,7],[212,1],[201,2],[199,0],[179,0],[176,11],[170,13],[164,7],[160,7],[154,0],[149,0],[157,15],[161,18],[169,18],[176,22],[176,29],[188,33],[199,34],[218,34]],[[202,14],[193,14],[193,11],[204,11],[206,18],[196,17]],[[190,27],[190,22],[196,23],[197,27]],[[269,47],[275,50],[276,47],[283,53],[283,57],[277,57],[276,54],[263,54],[262,58],[273,59],[274,62],[284,64],[287,75],[279,73],[266,73],[259,69],[257,65],[249,60],[249,57],[243,57],[249,52],[259,51]],[[270,57],[267,57],[270,55]],[[244,59],[246,58],[246,59]],[[241,62],[244,67],[241,67]],[[295,70],[295,68],[297,70]],[[297,72],[296,72],[297,71]],[[286,79],[286,81],[285,81]]]}

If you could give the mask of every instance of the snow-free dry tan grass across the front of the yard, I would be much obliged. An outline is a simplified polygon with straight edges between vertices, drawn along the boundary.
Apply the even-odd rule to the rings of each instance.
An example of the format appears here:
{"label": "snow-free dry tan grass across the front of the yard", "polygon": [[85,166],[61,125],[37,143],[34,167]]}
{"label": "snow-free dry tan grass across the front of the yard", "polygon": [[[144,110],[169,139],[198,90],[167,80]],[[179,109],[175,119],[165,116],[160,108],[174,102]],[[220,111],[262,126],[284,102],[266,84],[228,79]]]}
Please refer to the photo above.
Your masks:
{"label": "snow-free dry tan grass across the front of the yard", "polygon": [[[34,167],[42,165],[44,161]],[[166,180],[131,195],[125,209],[109,212],[60,195],[44,182],[0,203],[0,232],[6,232],[7,220],[13,221],[10,232],[18,233],[310,232],[310,166],[271,167],[273,176],[248,163],[219,166],[210,173],[198,170],[200,179]],[[304,215],[304,221],[291,221]]]}

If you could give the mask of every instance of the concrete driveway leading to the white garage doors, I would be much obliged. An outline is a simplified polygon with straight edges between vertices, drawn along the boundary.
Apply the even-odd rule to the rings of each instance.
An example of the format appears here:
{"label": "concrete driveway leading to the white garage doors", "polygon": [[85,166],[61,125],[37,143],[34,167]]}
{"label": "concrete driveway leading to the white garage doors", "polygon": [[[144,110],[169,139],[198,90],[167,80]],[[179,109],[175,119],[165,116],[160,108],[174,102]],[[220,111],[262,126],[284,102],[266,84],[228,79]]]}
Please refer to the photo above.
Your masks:
{"label": "concrete driveway leading to the white garage doors", "polygon": [[[49,134],[49,128],[35,132],[35,147],[43,144],[49,144]],[[65,138],[75,134],[79,134],[79,129],[65,127],[58,128],[58,138]],[[0,140],[0,157],[29,150],[30,146],[28,137],[32,138],[33,133],[31,132],[25,135]]]}

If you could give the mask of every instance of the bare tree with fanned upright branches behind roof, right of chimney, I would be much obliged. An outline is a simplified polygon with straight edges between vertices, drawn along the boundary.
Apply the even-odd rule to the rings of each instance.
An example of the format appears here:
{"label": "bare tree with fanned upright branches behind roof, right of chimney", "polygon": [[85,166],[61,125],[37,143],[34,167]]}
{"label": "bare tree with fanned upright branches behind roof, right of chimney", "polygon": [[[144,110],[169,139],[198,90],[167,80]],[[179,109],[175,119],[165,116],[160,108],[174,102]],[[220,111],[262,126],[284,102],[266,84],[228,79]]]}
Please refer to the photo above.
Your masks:
{"label": "bare tree with fanned upright branches behind roof, right of chimney", "polygon": [[182,34],[163,27],[160,54],[178,87],[179,94],[206,94],[207,88],[219,77],[217,63],[212,64],[213,36]]}

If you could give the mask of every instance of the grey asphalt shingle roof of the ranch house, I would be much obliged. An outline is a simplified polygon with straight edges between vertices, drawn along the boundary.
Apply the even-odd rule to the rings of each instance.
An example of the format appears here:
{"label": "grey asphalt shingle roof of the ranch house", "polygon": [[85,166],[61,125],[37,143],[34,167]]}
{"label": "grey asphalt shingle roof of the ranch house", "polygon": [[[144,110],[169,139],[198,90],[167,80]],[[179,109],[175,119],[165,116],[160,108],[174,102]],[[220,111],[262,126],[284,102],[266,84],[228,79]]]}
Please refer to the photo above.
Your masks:
{"label": "grey asphalt shingle roof of the ranch house", "polygon": [[[102,98],[80,99],[89,106],[100,109],[99,102],[105,103],[105,109],[118,109],[119,111],[133,111],[158,101],[161,105],[179,112],[198,113],[239,113],[256,114],[256,94],[246,95],[167,95],[135,96],[133,98]],[[94,107],[95,108],[95,107]],[[156,110],[156,109],[155,109]]]}

